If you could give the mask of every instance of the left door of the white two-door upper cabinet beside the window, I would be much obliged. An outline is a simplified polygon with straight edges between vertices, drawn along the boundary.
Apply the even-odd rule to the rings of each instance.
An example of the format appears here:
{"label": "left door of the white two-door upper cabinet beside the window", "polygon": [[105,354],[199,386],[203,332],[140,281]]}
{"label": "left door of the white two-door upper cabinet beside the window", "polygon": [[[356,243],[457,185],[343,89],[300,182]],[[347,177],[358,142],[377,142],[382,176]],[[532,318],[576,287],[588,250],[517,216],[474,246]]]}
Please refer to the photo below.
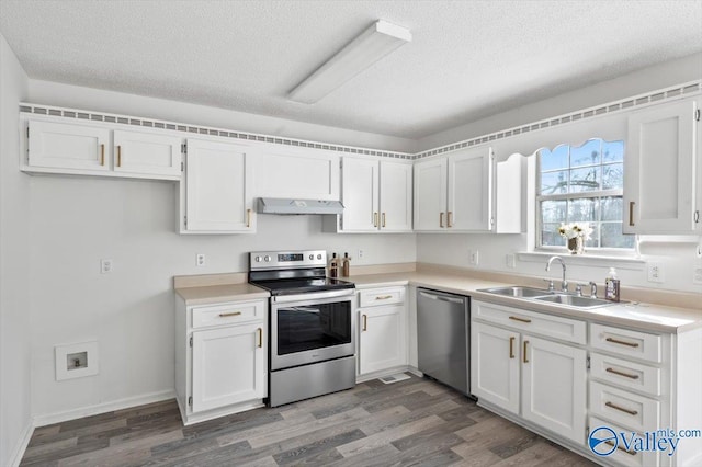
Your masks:
{"label": "left door of the white two-door upper cabinet beside the window", "polygon": [[415,230],[440,231],[446,227],[446,159],[415,164]]}

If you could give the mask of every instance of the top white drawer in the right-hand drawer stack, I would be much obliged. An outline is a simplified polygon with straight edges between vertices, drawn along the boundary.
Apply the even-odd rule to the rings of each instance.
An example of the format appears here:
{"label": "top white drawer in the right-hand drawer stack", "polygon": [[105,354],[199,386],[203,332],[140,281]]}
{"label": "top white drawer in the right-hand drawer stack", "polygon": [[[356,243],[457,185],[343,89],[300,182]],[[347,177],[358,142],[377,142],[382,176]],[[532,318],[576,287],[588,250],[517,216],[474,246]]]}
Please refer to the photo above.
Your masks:
{"label": "top white drawer in the right-hand drawer stack", "polygon": [[649,362],[661,362],[663,340],[658,334],[591,323],[590,340],[591,345],[597,349]]}

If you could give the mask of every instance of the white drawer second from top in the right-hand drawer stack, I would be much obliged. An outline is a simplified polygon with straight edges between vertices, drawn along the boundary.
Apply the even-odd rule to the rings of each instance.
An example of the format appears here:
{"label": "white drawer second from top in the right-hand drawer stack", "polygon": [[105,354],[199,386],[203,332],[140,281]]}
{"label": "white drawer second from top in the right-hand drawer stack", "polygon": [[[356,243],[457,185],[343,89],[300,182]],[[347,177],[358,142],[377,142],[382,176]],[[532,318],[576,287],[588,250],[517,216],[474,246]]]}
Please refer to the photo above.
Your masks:
{"label": "white drawer second from top in the right-hand drawer stack", "polygon": [[590,371],[595,378],[618,386],[660,396],[660,368],[627,362],[599,353],[590,354]]}

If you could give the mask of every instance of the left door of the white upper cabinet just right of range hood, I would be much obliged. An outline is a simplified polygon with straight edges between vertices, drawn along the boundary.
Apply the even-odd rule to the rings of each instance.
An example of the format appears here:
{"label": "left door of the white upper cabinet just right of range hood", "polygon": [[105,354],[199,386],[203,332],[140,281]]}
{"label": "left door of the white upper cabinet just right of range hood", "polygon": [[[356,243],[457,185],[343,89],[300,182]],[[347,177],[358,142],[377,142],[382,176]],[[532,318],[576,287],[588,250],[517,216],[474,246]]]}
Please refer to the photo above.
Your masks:
{"label": "left door of the white upper cabinet just right of range hood", "polygon": [[342,231],[377,231],[378,162],[370,159],[343,158],[341,168]]}

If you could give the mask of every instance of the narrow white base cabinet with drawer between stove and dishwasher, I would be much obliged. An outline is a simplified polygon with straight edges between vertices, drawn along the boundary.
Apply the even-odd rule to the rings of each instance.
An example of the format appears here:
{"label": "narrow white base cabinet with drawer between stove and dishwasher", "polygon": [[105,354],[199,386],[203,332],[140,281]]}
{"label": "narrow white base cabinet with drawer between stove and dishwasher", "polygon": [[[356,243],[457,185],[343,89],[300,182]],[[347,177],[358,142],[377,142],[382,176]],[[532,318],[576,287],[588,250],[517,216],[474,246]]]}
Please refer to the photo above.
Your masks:
{"label": "narrow white base cabinet with drawer between stove and dishwasher", "polygon": [[406,287],[362,289],[358,373],[362,379],[407,367]]}

